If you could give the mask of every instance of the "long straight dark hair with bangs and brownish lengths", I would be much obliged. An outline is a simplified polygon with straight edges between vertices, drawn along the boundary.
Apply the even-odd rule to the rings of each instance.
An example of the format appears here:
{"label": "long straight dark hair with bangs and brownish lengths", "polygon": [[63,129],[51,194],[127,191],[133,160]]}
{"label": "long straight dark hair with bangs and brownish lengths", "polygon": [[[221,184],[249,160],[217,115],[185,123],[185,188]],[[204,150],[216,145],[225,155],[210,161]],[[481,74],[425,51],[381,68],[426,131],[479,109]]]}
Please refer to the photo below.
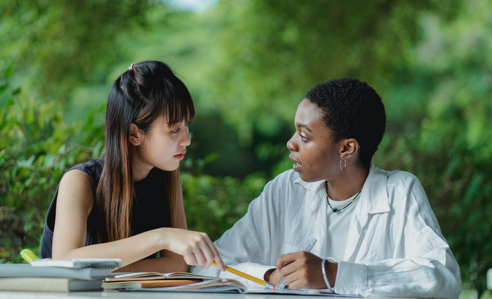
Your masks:
{"label": "long straight dark hair with bangs and brownish lengths", "polygon": [[[109,91],[105,122],[105,164],[96,192],[102,223],[98,239],[115,241],[129,237],[131,206],[135,190],[131,168],[130,126],[146,134],[162,115],[168,125],[194,118],[190,92],[164,62],[135,63],[114,81]],[[171,226],[175,227],[175,197],[178,170],[166,171],[164,190]]]}

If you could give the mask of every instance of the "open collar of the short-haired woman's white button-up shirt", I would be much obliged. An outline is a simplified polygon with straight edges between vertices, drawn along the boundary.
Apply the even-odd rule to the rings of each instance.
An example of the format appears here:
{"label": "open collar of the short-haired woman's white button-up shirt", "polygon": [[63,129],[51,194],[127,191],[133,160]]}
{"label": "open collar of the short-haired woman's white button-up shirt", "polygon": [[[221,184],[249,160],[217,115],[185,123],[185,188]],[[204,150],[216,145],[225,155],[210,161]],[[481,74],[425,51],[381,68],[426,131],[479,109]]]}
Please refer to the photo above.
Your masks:
{"label": "open collar of the short-haired woman's white button-up shirt", "polygon": [[[386,188],[386,173],[386,171],[381,170],[371,163],[369,174],[362,187],[359,199],[360,202],[354,211],[355,217],[359,221],[361,227],[366,225],[368,214],[387,213],[390,211],[389,197]],[[301,178],[297,178],[294,182],[315,193],[320,189],[324,189],[324,180],[305,182],[301,180]],[[317,197],[317,199],[319,200],[320,198]]]}

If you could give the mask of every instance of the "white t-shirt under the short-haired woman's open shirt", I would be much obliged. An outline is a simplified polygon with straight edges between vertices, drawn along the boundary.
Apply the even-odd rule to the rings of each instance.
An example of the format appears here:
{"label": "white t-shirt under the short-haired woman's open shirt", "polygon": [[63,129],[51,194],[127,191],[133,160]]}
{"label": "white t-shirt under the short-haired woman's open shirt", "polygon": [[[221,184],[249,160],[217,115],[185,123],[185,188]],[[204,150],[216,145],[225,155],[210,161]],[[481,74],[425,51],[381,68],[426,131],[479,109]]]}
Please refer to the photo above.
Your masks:
{"label": "white t-shirt under the short-haired woman's open shirt", "polygon": [[[333,212],[329,206],[326,210],[326,213],[328,213],[328,238],[326,239],[327,257],[334,258],[335,260],[343,260],[343,254],[345,253],[345,247],[347,246],[347,238],[349,237],[350,220],[352,220],[355,206],[359,202],[359,196],[360,194],[355,194],[344,201],[334,201],[328,197],[331,206],[333,208],[338,208],[338,212]],[[354,199],[354,202],[350,204],[352,199]],[[350,206],[347,206],[348,204],[350,204]],[[344,208],[345,206],[346,208]]]}

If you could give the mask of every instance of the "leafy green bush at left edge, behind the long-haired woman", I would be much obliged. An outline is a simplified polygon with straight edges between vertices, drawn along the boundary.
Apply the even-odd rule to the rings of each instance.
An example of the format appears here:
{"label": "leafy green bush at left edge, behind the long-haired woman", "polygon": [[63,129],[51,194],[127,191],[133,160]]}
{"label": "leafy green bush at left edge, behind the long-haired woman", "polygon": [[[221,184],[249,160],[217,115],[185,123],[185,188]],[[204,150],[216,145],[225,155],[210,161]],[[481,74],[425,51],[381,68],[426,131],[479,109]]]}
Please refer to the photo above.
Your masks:
{"label": "leafy green bush at left edge, behind the long-haired woman", "polygon": [[[5,77],[9,77],[10,70]],[[46,210],[62,174],[101,154],[69,142],[81,126],[66,126],[55,102],[26,98],[20,88],[0,93],[0,259],[19,260],[21,248],[38,248]]]}

